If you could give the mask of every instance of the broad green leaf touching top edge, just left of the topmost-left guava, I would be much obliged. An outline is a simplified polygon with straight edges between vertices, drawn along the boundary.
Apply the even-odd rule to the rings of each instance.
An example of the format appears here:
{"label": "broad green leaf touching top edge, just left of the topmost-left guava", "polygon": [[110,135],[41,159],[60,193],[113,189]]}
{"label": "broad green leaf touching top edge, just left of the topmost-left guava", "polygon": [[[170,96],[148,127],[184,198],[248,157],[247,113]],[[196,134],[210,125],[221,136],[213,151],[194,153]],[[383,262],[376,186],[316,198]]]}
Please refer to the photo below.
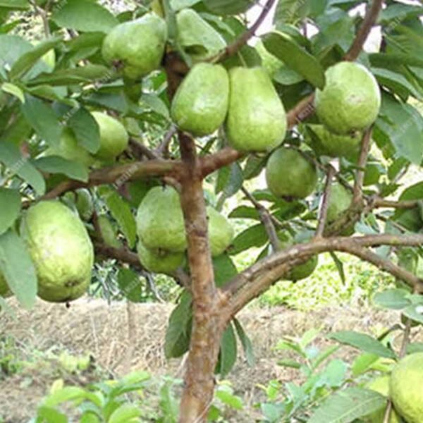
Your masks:
{"label": "broad green leaf touching top edge, just left of the topmost-left guava", "polygon": [[59,27],[82,32],[109,32],[118,20],[103,6],[94,1],[68,0],[51,16]]}

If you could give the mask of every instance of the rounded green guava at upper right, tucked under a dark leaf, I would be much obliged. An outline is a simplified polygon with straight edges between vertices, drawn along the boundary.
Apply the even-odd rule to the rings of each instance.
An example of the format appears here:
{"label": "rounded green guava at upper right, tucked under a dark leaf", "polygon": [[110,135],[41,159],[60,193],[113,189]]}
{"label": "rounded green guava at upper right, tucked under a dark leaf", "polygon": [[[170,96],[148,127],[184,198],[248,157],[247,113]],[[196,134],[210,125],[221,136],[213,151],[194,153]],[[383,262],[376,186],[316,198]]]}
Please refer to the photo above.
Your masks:
{"label": "rounded green guava at upper right, tucked under a dark leaf", "polygon": [[379,114],[381,92],[367,68],[342,61],[326,71],[326,85],[316,90],[314,106],[321,123],[345,135],[368,128]]}

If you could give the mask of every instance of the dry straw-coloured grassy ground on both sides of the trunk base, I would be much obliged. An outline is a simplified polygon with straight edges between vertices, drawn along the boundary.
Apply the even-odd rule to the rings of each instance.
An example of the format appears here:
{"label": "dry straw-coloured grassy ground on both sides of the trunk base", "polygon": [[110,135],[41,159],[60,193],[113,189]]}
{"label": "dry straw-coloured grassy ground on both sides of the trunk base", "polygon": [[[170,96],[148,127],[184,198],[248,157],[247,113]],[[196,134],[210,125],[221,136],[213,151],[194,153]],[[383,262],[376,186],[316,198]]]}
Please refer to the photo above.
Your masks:
{"label": "dry straw-coloured grassy ground on both sides of the trunk base", "polygon": [[[163,353],[166,322],[172,305],[147,303],[128,307],[124,302],[108,305],[103,300],[82,299],[67,309],[64,305],[39,300],[28,312],[14,300],[9,303],[14,316],[0,315],[0,359],[4,360],[5,340],[13,339],[20,360],[25,359],[30,364],[7,375],[1,372],[1,365],[6,367],[0,360],[0,422],[1,417],[4,423],[23,423],[34,417],[37,404],[57,379],[85,385],[133,369],[148,370],[155,375],[166,373],[180,377],[183,374],[183,362],[166,362]],[[133,333],[128,331],[128,317],[135,324]],[[257,364],[248,367],[241,355],[228,379],[233,381],[235,392],[243,396],[250,412],[254,413],[252,404],[260,395],[258,384],[266,384],[270,379],[289,381],[298,377],[298,372],[276,364],[283,353],[274,346],[282,336],[298,336],[307,329],[319,327],[323,333],[344,329],[381,333],[393,321],[398,321],[398,315],[356,307],[331,307],[311,312],[255,307],[245,309],[239,319],[255,345]],[[326,342],[321,339],[318,343],[323,346],[321,344]],[[66,372],[59,360],[63,351],[73,356],[91,355],[88,371]],[[348,348],[343,348],[341,353],[347,360],[355,354]],[[13,366],[9,367],[13,370]]]}

